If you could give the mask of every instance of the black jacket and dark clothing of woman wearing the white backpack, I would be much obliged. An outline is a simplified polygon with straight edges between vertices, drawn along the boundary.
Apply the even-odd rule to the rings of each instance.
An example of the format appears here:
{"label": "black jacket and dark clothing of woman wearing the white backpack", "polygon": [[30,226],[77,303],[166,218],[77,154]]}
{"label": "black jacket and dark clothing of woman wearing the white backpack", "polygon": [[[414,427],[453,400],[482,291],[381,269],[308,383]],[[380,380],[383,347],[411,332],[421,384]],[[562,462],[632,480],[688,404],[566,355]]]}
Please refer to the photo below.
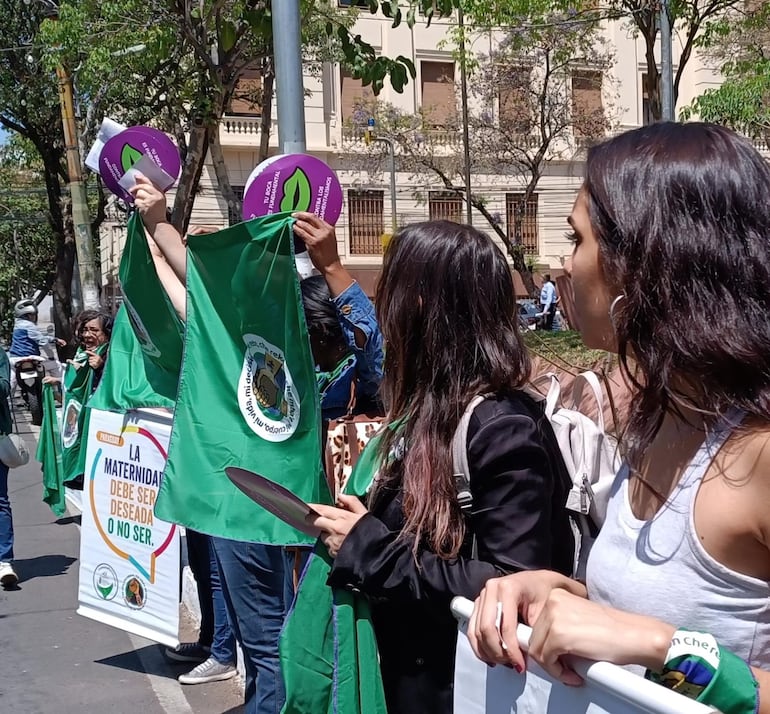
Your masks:
{"label": "black jacket and dark clothing of woman wearing the white backpack", "polygon": [[457,558],[420,549],[415,560],[413,541],[397,537],[404,516],[394,490],[358,521],[334,561],[329,584],[371,601],[391,714],[451,714],[455,595],[474,599],[489,578],[517,570],[572,571],[569,477],[542,408],[522,392],[482,402],[468,428],[468,463],[470,533]]}

